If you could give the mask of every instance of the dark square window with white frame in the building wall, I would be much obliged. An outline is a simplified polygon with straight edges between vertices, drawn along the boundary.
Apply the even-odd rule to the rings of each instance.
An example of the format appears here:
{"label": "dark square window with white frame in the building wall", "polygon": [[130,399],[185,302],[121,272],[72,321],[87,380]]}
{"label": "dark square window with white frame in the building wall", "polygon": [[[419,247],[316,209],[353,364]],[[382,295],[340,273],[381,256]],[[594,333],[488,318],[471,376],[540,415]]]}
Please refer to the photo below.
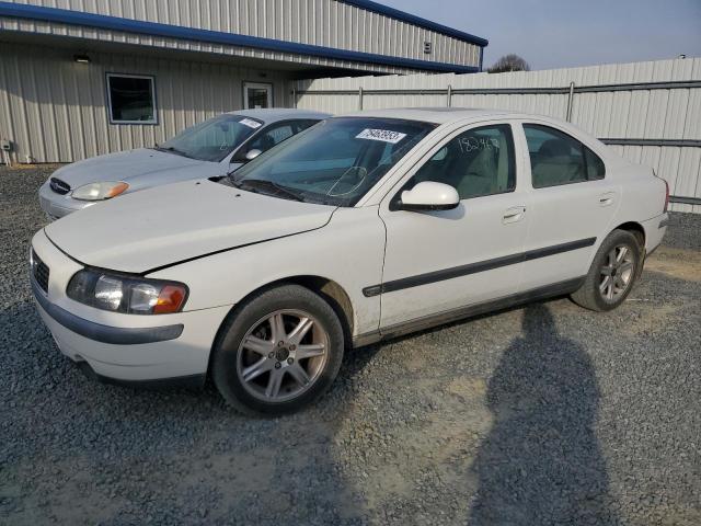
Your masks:
{"label": "dark square window with white frame in the building wall", "polygon": [[153,77],[107,73],[107,106],[112,124],[158,124]]}

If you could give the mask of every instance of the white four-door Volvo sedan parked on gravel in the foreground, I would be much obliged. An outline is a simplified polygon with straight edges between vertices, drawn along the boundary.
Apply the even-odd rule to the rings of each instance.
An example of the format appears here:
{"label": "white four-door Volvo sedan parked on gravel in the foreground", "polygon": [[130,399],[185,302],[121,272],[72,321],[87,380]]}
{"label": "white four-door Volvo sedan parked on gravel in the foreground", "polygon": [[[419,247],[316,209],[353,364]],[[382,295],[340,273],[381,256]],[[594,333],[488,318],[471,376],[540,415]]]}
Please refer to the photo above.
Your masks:
{"label": "white four-door Volvo sedan parked on gravel in the foreground", "polygon": [[47,226],[31,283],[92,376],[209,376],[235,408],[284,413],[353,346],[549,296],[621,305],[666,209],[651,169],[560,121],[361,112]]}

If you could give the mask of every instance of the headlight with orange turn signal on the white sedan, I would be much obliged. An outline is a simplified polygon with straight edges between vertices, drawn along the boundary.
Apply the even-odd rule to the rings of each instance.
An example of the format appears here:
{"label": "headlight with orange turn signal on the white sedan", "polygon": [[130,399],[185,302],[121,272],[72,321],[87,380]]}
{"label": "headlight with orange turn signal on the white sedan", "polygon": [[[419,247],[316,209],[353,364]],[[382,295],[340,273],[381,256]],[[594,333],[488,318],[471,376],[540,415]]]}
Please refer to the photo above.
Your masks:
{"label": "headlight with orange turn signal on the white sedan", "polygon": [[76,301],[102,310],[125,315],[165,315],[182,310],[187,299],[187,287],[182,283],[85,268],[70,278],[66,294]]}

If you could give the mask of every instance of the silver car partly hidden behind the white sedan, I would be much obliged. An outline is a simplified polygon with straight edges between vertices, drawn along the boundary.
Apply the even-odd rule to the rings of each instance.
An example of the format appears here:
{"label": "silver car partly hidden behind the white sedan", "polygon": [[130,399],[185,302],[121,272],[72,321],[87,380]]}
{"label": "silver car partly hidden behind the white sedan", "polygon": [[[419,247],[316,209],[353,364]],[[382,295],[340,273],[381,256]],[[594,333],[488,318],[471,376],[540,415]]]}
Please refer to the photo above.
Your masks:
{"label": "silver car partly hidden behind the white sedan", "polygon": [[39,188],[39,204],[49,219],[58,219],[117,195],[223,175],[329,116],[287,108],[225,113],[153,148],[108,153],[61,167]]}

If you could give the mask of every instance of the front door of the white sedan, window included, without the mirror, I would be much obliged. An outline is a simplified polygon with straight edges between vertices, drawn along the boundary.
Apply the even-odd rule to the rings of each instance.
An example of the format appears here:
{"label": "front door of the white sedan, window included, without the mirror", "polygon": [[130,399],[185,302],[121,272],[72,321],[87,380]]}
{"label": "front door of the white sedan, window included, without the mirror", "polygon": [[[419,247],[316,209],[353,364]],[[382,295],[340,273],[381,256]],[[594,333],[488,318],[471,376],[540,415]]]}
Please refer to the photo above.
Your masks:
{"label": "front door of the white sedan, window included, without the mirror", "polygon": [[458,190],[452,210],[393,209],[401,191],[380,205],[387,228],[381,323],[403,322],[518,293],[528,214],[509,124],[472,125],[451,134],[401,186],[436,181]]}

